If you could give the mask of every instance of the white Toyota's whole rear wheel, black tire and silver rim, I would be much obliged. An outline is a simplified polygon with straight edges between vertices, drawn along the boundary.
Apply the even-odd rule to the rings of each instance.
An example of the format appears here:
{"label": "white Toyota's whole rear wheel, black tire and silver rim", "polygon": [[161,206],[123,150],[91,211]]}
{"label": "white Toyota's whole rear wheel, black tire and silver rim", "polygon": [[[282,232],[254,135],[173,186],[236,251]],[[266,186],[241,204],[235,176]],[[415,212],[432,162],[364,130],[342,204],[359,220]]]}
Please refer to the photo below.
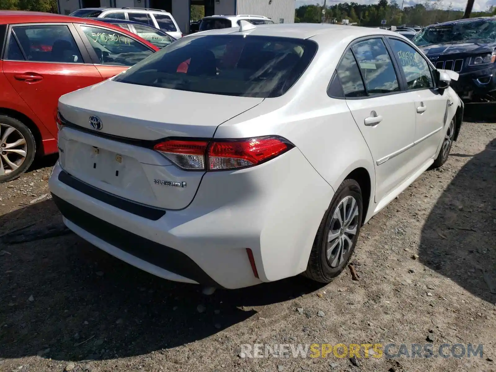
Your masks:
{"label": "white Toyota's whole rear wheel, black tire and silver rim", "polygon": [[355,180],[338,187],[317,230],[304,275],[329,283],[348,265],[362,226],[362,191]]}

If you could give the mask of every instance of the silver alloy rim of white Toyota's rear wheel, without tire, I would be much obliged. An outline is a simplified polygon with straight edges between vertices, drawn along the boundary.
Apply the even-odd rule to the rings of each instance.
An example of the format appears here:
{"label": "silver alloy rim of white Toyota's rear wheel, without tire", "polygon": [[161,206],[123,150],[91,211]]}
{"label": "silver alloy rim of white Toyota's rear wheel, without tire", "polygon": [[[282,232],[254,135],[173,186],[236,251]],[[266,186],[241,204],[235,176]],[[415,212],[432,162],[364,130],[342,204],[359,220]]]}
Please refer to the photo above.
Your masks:
{"label": "silver alloy rim of white Toyota's rear wheel, without tire", "polygon": [[329,225],[327,261],[332,268],[348,260],[358,228],[358,203],[353,196],[340,201]]}

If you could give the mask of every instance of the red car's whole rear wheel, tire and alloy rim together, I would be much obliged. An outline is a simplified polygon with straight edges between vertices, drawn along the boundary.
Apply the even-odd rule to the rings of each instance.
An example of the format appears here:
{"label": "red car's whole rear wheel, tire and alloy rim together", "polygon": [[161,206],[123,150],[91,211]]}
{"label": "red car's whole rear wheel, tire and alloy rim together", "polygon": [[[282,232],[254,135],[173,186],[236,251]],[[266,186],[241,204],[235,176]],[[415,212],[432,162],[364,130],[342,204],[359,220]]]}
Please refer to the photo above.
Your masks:
{"label": "red car's whole rear wheel, tire and alloy rim together", "polygon": [[31,130],[16,119],[0,115],[0,183],[26,172],[35,152]]}

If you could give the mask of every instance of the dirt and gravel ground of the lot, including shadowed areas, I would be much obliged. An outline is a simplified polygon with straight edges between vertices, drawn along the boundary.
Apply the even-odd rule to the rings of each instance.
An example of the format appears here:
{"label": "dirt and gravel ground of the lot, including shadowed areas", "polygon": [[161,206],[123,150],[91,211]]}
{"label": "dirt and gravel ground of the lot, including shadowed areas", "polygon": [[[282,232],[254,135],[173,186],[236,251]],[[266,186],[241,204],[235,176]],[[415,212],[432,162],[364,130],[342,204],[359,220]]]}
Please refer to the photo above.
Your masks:
{"label": "dirt and gravel ground of the lot, including shadowed areas", "polygon": [[[72,234],[3,244],[0,371],[496,371],[495,138],[496,124],[464,123],[445,166],[364,226],[354,257],[359,281],[347,270],[325,287],[295,277],[204,296]],[[43,176],[54,161],[0,185],[0,235],[60,222],[49,197],[30,203],[48,193]],[[244,343],[424,344],[428,337],[434,350],[484,344],[484,356],[362,358],[356,367],[332,354],[238,355]]]}

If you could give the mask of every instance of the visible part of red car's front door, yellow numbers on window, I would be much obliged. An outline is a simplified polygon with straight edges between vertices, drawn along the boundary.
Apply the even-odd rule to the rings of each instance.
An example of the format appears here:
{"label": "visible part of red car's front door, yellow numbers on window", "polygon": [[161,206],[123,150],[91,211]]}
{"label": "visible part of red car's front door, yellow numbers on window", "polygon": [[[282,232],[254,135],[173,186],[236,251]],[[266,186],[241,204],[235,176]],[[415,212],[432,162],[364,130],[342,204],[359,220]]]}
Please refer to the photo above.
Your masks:
{"label": "visible part of red car's front door, yellow numbers on window", "polygon": [[76,24],[76,29],[104,79],[113,77],[155,51],[137,39],[113,29]]}

